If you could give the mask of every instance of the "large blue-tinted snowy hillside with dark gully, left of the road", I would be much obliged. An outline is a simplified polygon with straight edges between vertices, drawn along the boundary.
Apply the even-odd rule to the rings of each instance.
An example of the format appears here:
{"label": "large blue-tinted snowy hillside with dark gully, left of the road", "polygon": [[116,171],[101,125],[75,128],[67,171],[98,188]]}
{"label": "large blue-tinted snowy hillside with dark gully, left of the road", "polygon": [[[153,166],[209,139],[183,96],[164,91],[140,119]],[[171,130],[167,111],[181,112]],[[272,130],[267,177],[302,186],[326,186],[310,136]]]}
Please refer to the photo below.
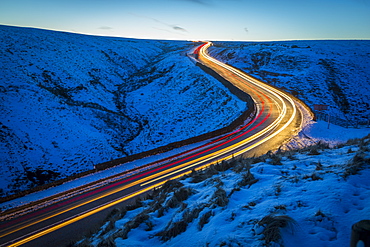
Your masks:
{"label": "large blue-tinted snowy hillside with dark gully, left of the road", "polygon": [[193,46],[0,26],[0,196],[230,124]]}

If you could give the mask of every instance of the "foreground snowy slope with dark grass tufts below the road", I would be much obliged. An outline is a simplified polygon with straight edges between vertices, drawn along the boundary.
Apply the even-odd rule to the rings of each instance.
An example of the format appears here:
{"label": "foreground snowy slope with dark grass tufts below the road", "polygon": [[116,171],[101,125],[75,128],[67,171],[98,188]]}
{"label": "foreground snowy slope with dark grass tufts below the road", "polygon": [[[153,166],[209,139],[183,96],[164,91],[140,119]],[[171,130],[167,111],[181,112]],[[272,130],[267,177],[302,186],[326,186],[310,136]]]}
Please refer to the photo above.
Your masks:
{"label": "foreground snowy slope with dark grass tufts below the road", "polygon": [[370,136],[235,159],[115,209],[76,246],[349,246],[370,215]]}

